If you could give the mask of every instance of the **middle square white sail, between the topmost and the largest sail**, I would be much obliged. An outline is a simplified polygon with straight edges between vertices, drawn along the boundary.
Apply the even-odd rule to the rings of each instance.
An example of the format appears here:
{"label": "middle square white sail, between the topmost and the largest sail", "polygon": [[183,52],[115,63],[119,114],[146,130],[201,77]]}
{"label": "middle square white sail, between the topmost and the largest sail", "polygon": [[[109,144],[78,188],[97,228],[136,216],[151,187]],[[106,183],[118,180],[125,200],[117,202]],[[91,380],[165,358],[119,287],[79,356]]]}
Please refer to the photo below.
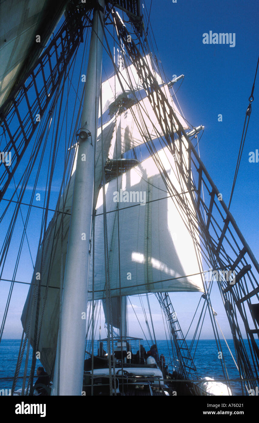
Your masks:
{"label": "middle square white sail, between the topmost and the largest sail", "polygon": [[[162,90],[168,102],[173,107],[183,129],[188,129],[188,125],[173,102],[168,86],[164,85]],[[175,130],[178,130],[178,125],[175,121],[174,123],[175,128],[173,128],[173,131],[175,132]],[[118,115],[116,120],[116,131],[113,133],[109,151],[109,158],[117,159],[126,151],[143,144],[145,140],[155,140],[162,136],[164,136],[164,132],[156,118],[149,99],[146,97]]]}

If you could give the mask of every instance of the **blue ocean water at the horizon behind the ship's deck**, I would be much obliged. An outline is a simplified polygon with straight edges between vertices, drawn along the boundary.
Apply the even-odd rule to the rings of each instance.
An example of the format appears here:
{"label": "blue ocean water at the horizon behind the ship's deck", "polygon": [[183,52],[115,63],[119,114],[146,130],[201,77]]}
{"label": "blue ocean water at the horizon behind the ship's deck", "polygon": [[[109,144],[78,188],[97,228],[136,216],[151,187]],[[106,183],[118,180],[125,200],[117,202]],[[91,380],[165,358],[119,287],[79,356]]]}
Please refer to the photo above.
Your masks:
{"label": "blue ocean water at the horizon behind the ship's deck", "polygon": [[[187,345],[190,346],[191,341],[186,341]],[[143,346],[145,347],[146,351],[149,350],[147,341],[143,340]],[[234,343],[232,339],[227,340],[230,350],[235,358],[235,349]],[[246,346],[246,351],[248,357],[250,356],[248,341],[244,341]],[[156,341],[158,352],[160,354],[164,354],[166,357],[166,364],[167,364],[167,357],[168,357],[168,346],[166,340],[157,340]],[[149,343],[149,345],[151,345]],[[19,339],[3,339],[0,344],[0,389],[9,389],[12,387],[13,383],[13,375],[16,368],[16,361],[19,354],[19,347],[20,347],[20,340]],[[195,349],[195,347],[194,347]],[[194,354],[194,349],[192,350],[192,356]],[[221,351],[224,355],[224,360],[227,367],[227,372],[229,375],[229,379],[238,379],[239,374],[236,368],[236,365],[229,353],[227,345],[224,340],[221,340]],[[97,354],[97,341],[94,342],[94,353]],[[19,379],[17,381],[16,389],[22,387],[22,376],[24,374],[24,363],[25,363],[25,355],[21,365],[21,370],[19,374]],[[27,375],[30,373],[30,363],[32,360],[32,351],[30,351],[29,355],[29,365],[27,369]],[[36,367],[40,364],[39,360],[37,360]],[[218,348],[216,346],[216,341],[209,339],[202,339],[198,342],[197,349],[194,354],[194,363],[197,368],[197,372],[199,377],[212,377],[215,380],[222,380],[224,379],[224,374],[222,371],[221,360],[219,359]],[[233,395],[242,395],[242,390],[238,382],[231,382],[231,389]]]}

